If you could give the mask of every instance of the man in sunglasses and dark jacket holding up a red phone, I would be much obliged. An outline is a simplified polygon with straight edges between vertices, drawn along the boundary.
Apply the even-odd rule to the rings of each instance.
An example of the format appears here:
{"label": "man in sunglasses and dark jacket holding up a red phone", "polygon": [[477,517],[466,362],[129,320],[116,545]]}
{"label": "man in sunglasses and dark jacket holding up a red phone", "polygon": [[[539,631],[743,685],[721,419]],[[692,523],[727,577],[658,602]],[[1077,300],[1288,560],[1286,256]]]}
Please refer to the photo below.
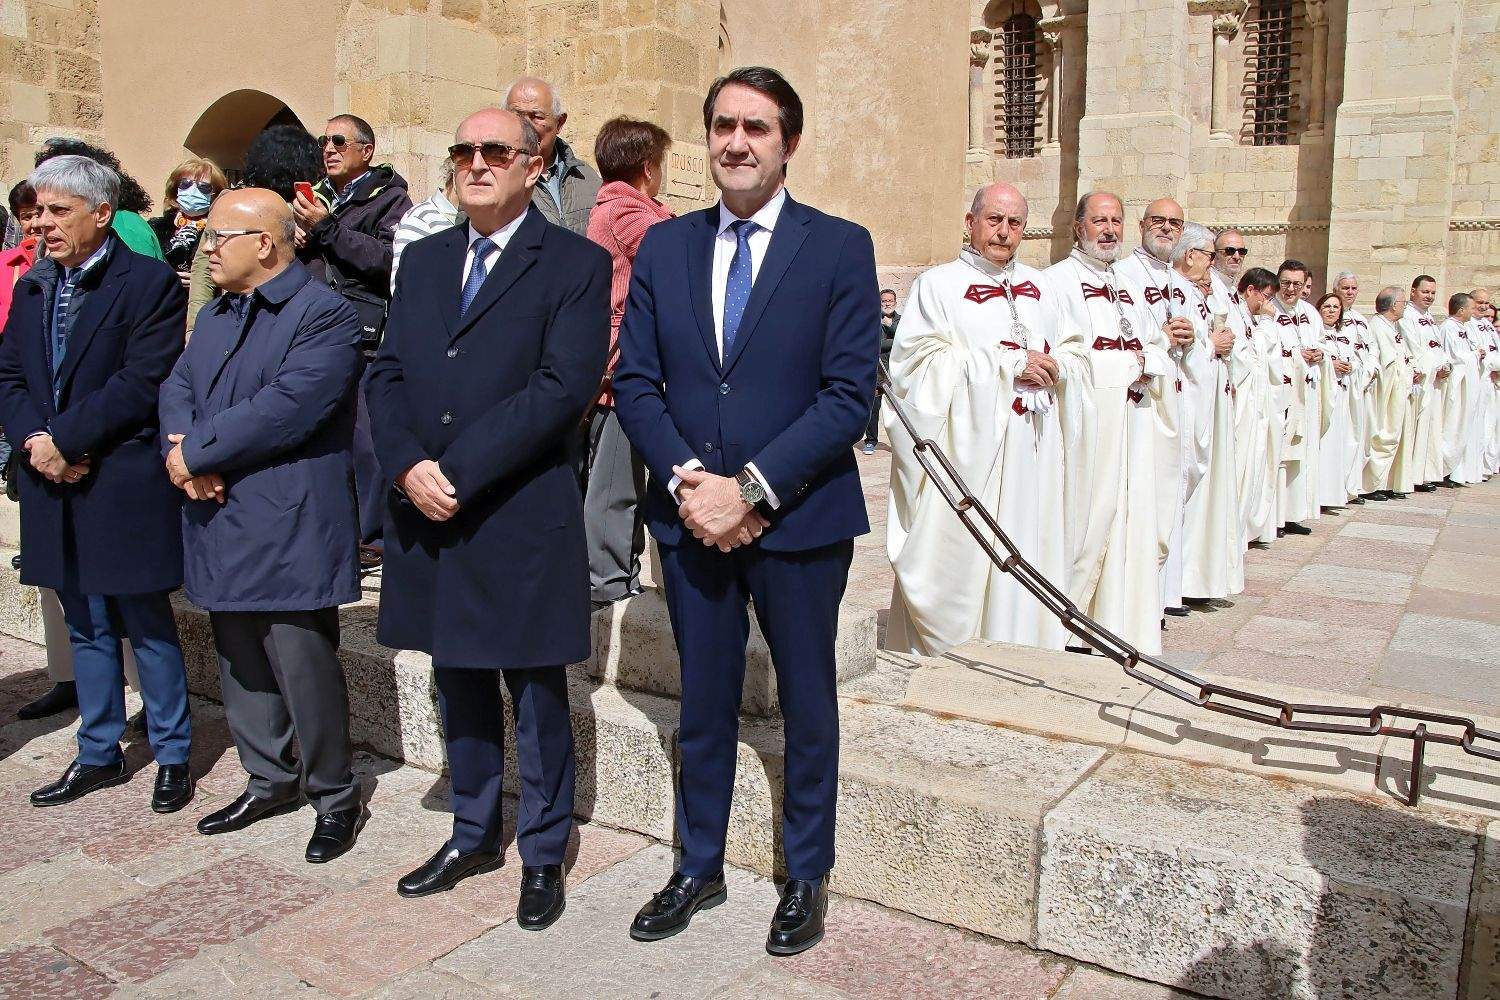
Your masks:
{"label": "man in sunglasses and dark jacket holding up a red phone", "polygon": [[[298,256],[314,277],[344,295],[360,315],[364,355],[372,357],[386,328],[396,226],[411,208],[406,178],[375,160],[375,130],[352,114],[328,120],[318,136],[327,177],[314,198],[297,193],[292,213],[306,234]],[[310,178],[309,178],[310,180]],[[354,487],[360,498],[360,562],[380,565],[384,490],[370,445],[370,417],[363,390],[354,423]]]}

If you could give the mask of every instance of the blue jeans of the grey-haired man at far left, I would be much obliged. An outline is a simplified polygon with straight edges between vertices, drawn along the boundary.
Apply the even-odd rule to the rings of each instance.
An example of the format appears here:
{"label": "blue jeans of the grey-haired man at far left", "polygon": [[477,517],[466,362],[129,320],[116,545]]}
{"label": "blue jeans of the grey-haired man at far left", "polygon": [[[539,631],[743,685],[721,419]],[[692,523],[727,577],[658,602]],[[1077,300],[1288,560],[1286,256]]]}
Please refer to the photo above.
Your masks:
{"label": "blue jeans of the grey-haired man at far left", "polygon": [[78,762],[120,760],[124,735],[124,666],[120,640],[129,639],[146,700],[146,735],[159,765],[188,763],[188,670],[177,642],[177,621],[166,594],[102,597],[58,591],[74,649],[78,684]]}

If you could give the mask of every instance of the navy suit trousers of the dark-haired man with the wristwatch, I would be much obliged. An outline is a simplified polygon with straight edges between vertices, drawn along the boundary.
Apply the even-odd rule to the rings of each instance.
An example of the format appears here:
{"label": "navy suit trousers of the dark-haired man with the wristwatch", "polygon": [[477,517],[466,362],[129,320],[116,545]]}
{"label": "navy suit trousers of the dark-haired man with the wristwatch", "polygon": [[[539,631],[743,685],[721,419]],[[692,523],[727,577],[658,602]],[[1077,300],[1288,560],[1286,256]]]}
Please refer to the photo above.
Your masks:
{"label": "navy suit trousers of the dark-haired man with the wristwatch", "polygon": [[820,879],[834,867],[838,697],[834,639],[854,541],[807,552],[698,541],[662,546],[668,612],[682,666],[676,832],[681,871],[706,879],[724,865],[735,783],[740,697],[750,637],[747,603],[771,648],[786,723],[782,843],[786,874]]}

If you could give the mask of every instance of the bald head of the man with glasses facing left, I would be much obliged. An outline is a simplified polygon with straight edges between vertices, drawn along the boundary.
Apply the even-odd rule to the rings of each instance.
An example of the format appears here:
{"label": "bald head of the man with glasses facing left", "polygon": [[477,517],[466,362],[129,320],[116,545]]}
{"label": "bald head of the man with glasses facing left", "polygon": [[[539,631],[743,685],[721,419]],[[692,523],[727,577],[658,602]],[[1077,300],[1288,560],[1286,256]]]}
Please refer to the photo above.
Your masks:
{"label": "bald head of the man with glasses facing left", "polygon": [[206,231],[218,234],[208,274],[226,292],[248,292],[297,259],[297,223],[274,190],[243,187],[219,195]]}

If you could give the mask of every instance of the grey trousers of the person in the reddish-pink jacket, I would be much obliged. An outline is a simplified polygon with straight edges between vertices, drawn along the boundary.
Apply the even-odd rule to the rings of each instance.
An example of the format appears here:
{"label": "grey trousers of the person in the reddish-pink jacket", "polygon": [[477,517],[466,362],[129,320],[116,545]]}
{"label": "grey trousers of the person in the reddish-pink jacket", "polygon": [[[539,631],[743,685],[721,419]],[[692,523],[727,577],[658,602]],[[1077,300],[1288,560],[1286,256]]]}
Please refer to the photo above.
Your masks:
{"label": "grey trousers of the person in the reddish-pink jacket", "polygon": [[640,552],[646,541],[640,498],[646,490],[646,466],[630,447],[610,406],[600,406],[590,417],[585,469],[584,531],[591,598],[618,601],[640,589]]}

